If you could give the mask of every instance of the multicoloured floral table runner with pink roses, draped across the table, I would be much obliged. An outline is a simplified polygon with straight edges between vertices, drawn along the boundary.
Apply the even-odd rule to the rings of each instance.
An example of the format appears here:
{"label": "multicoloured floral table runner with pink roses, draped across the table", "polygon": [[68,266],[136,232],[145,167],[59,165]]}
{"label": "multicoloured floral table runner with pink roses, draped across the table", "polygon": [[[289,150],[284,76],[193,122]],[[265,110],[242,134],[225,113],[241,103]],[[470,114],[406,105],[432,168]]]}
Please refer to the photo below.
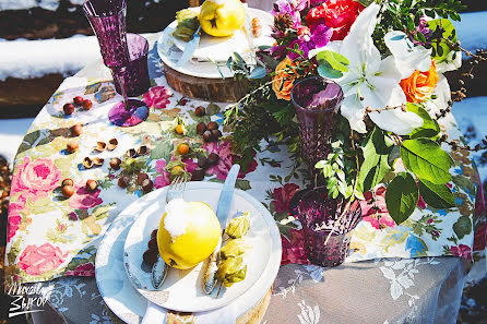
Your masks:
{"label": "multicoloured floral table runner with pink roses, draped across the table", "polygon": [[[121,171],[109,167],[110,158],[126,161],[130,148],[146,146],[150,153],[130,164],[122,163],[122,169],[147,173],[154,189],[169,183],[171,167],[179,165],[192,172],[198,166],[195,156],[210,153],[216,153],[219,160],[206,170],[205,181],[223,182],[238,160],[229,137],[205,143],[197,134],[195,125],[215,121],[228,135],[228,130],[222,127],[225,105],[185,98],[170,89],[161,75],[152,85],[141,96],[151,108],[149,119],[133,128],[118,128],[108,121],[108,110],[121,100],[111,82],[70,77],[49,99],[25,135],[14,161],[5,257],[8,279],[39,281],[63,275],[94,276],[96,247],[103,233],[124,207],[144,194],[136,179],[120,188]],[[63,105],[75,96],[91,99],[93,108],[64,116]],[[205,108],[205,116],[194,113],[198,106]],[[181,122],[183,133],[178,134],[175,127]],[[70,134],[75,123],[83,123],[80,137]],[[441,127],[450,139],[461,139],[451,115],[442,119]],[[107,143],[110,139],[117,139],[117,148],[95,151],[97,142]],[[73,140],[79,148],[69,154],[67,144]],[[190,154],[178,152],[181,143],[189,144]],[[85,169],[85,157],[105,161],[102,167]],[[353,232],[346,261],[437,255],[482,257],[476,251],[485,248],[486,225],[483,200],[477,201],[475,209],[475,196],[480,193],[478,173],[468,152],[454,152],[453,158],[451,185],[456,208],[429,209],[419,201],[415,214],[395,226],[385,209],[385,188],[379,187],[363,202],[364,221]],[[290,166],[285,146],[272,141],[262,143],[262,152],[242,168],[245,172],[240,173],[237,187],[262,201],[275,217],[283,237],[283,263],[306,264],[300,225],[288,213],[289,200],[304,183],[299,176],[287,177]],[[395,167],[401,169],[401,163]],[[70,199],[60,191],[66,178],[74,181]],[[98,182],[95,191],[85,189],[88,179]]]}

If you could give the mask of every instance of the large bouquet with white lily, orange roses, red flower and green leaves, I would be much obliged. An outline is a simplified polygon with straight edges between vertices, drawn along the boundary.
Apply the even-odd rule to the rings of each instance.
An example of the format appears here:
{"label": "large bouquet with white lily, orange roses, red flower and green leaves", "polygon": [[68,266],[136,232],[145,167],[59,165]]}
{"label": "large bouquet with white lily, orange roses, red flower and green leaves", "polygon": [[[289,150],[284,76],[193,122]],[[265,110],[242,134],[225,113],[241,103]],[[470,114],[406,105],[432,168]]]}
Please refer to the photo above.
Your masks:
{"label": "large bouquet with white lily, orange roses, red flower and green leaves", "polygon": [[441,144],[486,148],[449,142],[437,121],[465,96],[461,88],[452,98],[444,72],[461,67],[462,51],[486,60],[456,39],[451,20],[463,9],[455,0],[278,0],[275,45],[259,48],[253,65],[238,55],[227,61],[251,86],[225,113],[236,149],[250,158],[262,140],[275,136],[295,159],[286,181],[297,176],[305,158],[290,92],[298,81],[321,75],[344,97],[330,153],[314,166],[329,196],[349,203],[387,183],[385,204],[396,224],[419,197],[432,208],[454,207],[448,185],[453,159]]}

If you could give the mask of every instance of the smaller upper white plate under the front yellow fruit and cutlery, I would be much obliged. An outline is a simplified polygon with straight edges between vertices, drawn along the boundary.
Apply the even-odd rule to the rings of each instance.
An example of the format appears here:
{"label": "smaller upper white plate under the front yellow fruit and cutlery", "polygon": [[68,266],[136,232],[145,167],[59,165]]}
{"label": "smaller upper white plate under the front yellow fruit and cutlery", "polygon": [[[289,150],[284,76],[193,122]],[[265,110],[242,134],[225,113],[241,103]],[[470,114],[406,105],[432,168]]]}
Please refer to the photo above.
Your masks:
{"label": "smaller upper white plate under the front yellow fruit and cutlery", "polygon": [[[189,187],[185,190],[187,202],[201,201],[216,212],[219,189],[200,189]],[[222,287],[219,293],[215,289],[212,295],[203,291],[203,275],[206,261],[187,271],[169,268],[166,279],[159,290],[152,286],[152,274],[143,265],[142,255],[147,250],[151,232],[158,228],[161,217],[165,212],[166,200],[155,202],[133,223],[126,239],[123,263],[127,275],[138,291],[152,302],[166,309],[180,312],[203,312],[224,307],[243,295],[252,287],[264,272],[272,252],[270,227],[265,218],[245,196],[234,194],[229,215],[250,212],[250,229],[246,235],[246,243],[250,245],[243,254],[247,264],[245,280],[229,288]]]}

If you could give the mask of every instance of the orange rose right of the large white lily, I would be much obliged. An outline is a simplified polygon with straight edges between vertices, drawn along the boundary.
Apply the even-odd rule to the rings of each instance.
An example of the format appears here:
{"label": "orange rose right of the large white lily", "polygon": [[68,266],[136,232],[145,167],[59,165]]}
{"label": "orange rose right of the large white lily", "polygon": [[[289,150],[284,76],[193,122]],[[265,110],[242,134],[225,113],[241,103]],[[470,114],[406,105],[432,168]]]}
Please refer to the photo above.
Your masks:
{"label": "orange rose right of the large white lily", "polygon": [[437,83],[437,63],[431,60],[431,68],[427,72],[414,71],[409,77],[401,80],[401,87],[408,103],[420,103],[431,97]]}

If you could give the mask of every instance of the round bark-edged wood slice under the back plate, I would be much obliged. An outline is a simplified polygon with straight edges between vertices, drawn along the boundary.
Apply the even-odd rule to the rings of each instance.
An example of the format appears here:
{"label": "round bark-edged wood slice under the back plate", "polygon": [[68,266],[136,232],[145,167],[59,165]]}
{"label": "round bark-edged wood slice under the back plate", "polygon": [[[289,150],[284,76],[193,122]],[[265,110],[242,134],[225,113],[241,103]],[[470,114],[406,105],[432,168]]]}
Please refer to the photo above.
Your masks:
{"label": "round bark-edged wood slice under the back plate", "polygon": [[163,63],[167,83],[171,88],[193,99],[217,103],[236,103],[246,95],[247,82],[234,79],[206,79],[182,74]]}

